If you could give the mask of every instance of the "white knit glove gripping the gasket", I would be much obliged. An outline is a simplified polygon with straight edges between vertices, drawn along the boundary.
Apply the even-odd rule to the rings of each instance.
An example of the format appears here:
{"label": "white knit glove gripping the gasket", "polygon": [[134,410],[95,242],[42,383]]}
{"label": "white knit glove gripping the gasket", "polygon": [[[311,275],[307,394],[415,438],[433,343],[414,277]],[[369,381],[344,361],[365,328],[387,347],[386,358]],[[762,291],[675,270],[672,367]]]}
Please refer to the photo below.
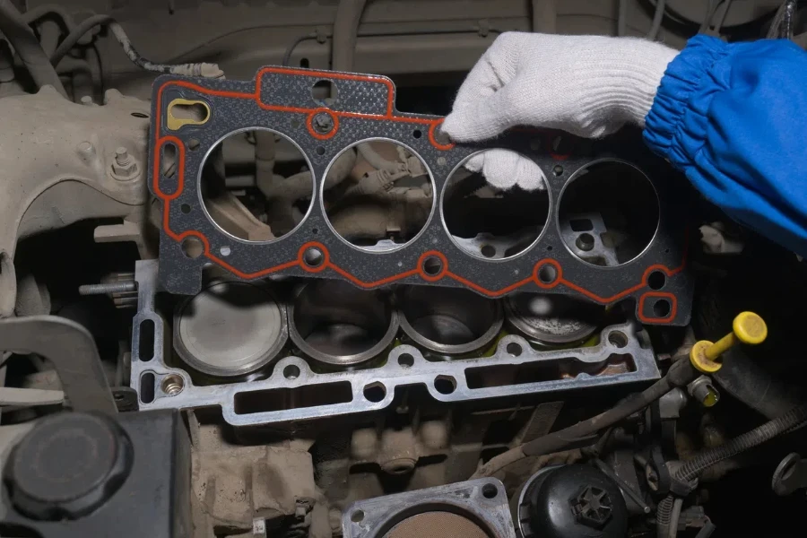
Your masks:
{"label": "white knit glove gripping the gasket", "polygon": [[[645,39],[506,32],[468,74],[442,130],[457,142],[475,142],[513,126],[588,138],[626,123],[644,126],[677,54]],[[483,152],[465,167],[494,187],[545,188],[541,169],[515,152]]]}

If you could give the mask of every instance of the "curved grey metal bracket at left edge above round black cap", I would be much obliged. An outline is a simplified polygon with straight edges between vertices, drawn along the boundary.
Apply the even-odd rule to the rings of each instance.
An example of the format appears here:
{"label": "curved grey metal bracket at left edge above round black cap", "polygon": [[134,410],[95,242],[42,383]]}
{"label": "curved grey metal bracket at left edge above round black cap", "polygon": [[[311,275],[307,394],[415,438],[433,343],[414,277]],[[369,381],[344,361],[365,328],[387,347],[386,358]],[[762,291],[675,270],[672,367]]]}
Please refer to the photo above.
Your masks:
{"label": "curved grey metal bracket at left edge above round black cap", "polygon": [[4,319],[0,350],[29,351],[48,359],[74,411],[117,414],[98,348],[82,325],[56,316]]}

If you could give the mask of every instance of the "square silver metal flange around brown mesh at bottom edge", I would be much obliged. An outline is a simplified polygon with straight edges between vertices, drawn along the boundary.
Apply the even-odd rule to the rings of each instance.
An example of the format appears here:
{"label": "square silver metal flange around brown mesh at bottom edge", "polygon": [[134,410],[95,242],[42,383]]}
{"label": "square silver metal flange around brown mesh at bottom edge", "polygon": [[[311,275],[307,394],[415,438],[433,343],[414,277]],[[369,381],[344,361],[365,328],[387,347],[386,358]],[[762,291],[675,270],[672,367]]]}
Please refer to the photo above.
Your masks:
{"label": "square silver metal flange around brown mesh at bottom edge", "polygon": [[342,533],[344,538],[383,538],[408,517],[435,511],[465,516],[491,538],[516,536],[507,491],[494,478],[360,500],[344,511]]}

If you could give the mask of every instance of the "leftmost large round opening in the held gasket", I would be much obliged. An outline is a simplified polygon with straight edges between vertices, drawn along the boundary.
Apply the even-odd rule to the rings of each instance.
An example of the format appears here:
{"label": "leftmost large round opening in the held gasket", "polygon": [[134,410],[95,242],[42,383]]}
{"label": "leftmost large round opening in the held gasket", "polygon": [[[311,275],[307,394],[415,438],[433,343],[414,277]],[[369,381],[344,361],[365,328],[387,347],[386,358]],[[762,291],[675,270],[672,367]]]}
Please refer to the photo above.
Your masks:
{"label": "leftmost large round opening in the held gasket", "polygon": [[280,239],[297,228],[311,207],[310,168],[297,144],[282,134],[268,129],[229,134],[205,157],[200,179],[204,209],[235,238]]}

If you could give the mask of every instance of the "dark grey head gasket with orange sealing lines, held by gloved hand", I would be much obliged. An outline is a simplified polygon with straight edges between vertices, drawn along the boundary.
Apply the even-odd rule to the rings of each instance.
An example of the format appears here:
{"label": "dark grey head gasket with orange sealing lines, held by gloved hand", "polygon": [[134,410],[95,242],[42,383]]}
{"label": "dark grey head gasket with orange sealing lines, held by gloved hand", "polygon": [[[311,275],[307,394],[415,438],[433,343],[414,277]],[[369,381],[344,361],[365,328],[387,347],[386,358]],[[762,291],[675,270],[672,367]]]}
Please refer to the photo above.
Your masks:
{"label": "dark grey head gasket with orange sealing lines, held by gloved hand", "polygon": [[[337,99],[324,106],[312,87],[328,81]],[[193,120],[176,121],[174,103],[199,103]],[[646,324],[685,325],[690,318],[692,279],[684,271],[686,211],[680,192],[656,175],[667,169],[643,164],[652,185],[658,224],[638,256],[617,266],[586,263],[561,236],[559,208],[567,187],[602,156],[578,150],[568,134],[514,130],[482,144],[455,144],[439,134],[441,117],[395,110],[395,86],[382,76],[264,67],[253,82],[161,76],[153,88],[150,188],[163,204],[161,286],[172,293],[200,290],[202,268],[213,263],[250,280],[270,274],[343,279],[370,289],[392,282],[464,287],[490,298],[512,291],[583,296],[601,304],[636,301]],[[217,143],[234,132],[270,129],[288,137],[313,173],[313,203],[296,229],[270,241],[237,239],[216,225],[201,197],[201,169]],[[562,142],[559,146],[559,142]],[[386,252],[355,247],[339,236],[325,215],[321,185],[334,159],[360,141],[404,144],[425,163],[435,201],[421,233]],[[164,149],[174,146],[176,170],[162,173]],[[561,148],[568,146],[570,150]],[[534,243],[516,256],[468,255],[447,231],[442,211],[447,180],[471,155],[504,148],[528,156],[547,178],[549,218]],[[625,162],[610,155],[609,162]],[[650,172],[653,173],[650,173]],[[680,189],[678,189],[680,191]],[[568,235],[568,234],[567,234]],[[183,243],[193,241],[196,251]],[[593,243],[599,247],[599,242]],[[588,247],[583,243],[584,247]]]}

